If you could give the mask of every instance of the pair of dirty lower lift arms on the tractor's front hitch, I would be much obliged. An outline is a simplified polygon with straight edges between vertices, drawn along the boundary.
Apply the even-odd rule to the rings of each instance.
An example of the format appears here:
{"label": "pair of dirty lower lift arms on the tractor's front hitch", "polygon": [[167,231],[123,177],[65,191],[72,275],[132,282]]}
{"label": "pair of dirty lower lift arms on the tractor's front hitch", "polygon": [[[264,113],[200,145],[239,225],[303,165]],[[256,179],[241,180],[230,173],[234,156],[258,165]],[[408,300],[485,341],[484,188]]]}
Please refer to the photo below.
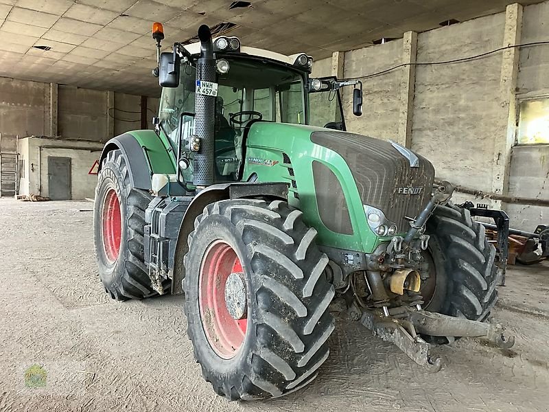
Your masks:
{"label": "pair of dirty lower lift arms on the tractor's front hitch", "polygon": [[[355,312],[357,308],[351,308]],[[352,313],[351,313],[352,316]],[[497,347],[508,349],[515,343],[514,336],[505,336],[500,323],[470,321],[444,314],[395,308],[386,317],[382,312],[362,310],[360,322],[375,336],[386,342],[394,343],[412,361],[430,372],[441,370],[441,358],[430,354],[430,344],[421,339],[420,334],[431,336],[471,337],[487,341]]]}

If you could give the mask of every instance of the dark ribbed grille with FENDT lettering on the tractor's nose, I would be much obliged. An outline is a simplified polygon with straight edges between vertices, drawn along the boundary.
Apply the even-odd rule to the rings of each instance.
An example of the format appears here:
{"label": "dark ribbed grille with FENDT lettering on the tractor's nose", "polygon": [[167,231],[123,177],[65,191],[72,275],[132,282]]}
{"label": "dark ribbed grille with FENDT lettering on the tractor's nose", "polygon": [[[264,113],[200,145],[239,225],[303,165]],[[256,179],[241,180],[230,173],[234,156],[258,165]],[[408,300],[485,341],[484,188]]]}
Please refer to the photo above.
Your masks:
{"label": "dark ribbed grille with FENDT lettering on the tractor's nose", "polygon": [[[434,179],[433,165],[419,157],[419,168],[389,141],[354,133],[318,131],[313,143],[337,152],[349,165],[364,205],[384,212],[401,231],[408,230],[406,216],[416,217],[428,203]],[[399,187],[423,187],[420,194],[399,193]],[[406,190],[401,190],[406,192]]]}

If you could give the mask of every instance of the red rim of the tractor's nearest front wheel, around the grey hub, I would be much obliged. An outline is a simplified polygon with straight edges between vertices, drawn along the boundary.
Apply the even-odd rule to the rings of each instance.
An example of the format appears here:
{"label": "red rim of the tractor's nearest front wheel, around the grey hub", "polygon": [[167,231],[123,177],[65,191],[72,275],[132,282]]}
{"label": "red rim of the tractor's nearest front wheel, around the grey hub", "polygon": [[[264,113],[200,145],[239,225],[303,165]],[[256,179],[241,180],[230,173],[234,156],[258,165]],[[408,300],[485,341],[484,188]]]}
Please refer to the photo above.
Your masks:
{"label": "red rim of the tractor's nearest front wheel, around the grey hub", "polygon": [[224,359],[237,354],[248,330],[248,315],[245,319],[233,319],[226,308],[225,284],[231,273],[244,275],[242,263],[229,244],[217,240],[208,247],[202,259],[198,277],[198,307],[208,342],[215,353]]}

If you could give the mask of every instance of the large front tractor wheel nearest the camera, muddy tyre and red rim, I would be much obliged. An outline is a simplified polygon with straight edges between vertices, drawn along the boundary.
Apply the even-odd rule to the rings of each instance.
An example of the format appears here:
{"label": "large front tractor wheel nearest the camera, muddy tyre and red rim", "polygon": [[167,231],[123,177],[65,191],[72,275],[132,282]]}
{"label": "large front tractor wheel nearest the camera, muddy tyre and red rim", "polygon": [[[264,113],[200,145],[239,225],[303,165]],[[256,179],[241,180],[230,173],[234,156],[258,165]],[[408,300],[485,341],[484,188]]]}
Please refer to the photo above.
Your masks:
{"label": "large front tractor wheel nearest the camera, muddy tyre and red rim", "polygon": [[334,287],[301,216],[282,201],[220,201],[189,235],[187,333],[205,379],[229,400],[296,391],[328,357]]}

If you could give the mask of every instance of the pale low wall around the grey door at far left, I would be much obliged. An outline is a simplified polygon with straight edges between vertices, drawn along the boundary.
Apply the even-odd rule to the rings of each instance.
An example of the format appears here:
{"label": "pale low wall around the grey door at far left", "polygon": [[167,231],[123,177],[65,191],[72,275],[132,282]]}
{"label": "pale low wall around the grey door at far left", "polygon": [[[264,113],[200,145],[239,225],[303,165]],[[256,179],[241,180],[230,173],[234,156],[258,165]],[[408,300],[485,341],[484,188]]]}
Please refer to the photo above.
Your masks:
{"label": "pale low wall around the grey door at far left", "polygon": [[97,175],[89,174],[89,170],[99,159],[102,144],[27,137],[21,139],[20,148],[24,168],[20,194],[49,195],[48,157],[56,156],[71,158],[72,198],[93,198]]}

